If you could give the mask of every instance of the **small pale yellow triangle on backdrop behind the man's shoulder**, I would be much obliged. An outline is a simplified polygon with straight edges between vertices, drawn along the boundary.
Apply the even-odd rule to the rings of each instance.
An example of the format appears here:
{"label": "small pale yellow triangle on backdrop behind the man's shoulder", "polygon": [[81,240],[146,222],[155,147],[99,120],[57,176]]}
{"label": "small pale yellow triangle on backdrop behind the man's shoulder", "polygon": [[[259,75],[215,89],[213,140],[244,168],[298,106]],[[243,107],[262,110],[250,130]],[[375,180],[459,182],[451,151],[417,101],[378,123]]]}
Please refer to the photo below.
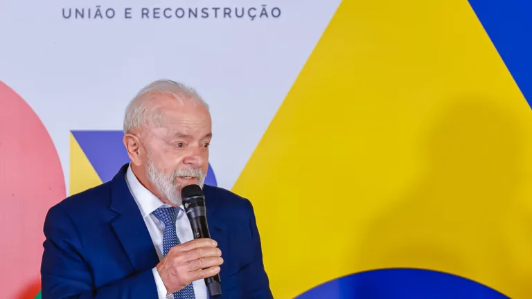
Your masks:
{"label": "small pale yellow triangle on backdrop behind the man's shoulder", "polygon": [[70,134],[70,194],[76,194],[100,185],[102,180],[82,151],[78,141]]}

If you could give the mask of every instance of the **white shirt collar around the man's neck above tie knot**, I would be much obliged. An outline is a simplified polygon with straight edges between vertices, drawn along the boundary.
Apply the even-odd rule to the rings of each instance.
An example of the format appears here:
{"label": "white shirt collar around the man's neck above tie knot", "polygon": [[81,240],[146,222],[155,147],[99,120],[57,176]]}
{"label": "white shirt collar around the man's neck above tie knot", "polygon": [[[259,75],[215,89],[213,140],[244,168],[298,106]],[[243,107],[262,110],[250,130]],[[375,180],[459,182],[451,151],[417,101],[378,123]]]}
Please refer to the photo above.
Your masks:
{"label": "white shirt collar around the man's neck above tie knot", "polygon": [[[131,163],[127,167],[125,172],[125,178],[127,184],[130,186],[130,190],[133,194],[137,205],[141,210],[142,217],[150,215],[154,210],[157,210],[161,207],[170,207],[168,203],[163,203],[161,199],[157,198],[150,190],[145,188],[139,179],[136,178],[133,170],[131,169]],[[181,210],[184,210],[184,207],[179,206]]]}

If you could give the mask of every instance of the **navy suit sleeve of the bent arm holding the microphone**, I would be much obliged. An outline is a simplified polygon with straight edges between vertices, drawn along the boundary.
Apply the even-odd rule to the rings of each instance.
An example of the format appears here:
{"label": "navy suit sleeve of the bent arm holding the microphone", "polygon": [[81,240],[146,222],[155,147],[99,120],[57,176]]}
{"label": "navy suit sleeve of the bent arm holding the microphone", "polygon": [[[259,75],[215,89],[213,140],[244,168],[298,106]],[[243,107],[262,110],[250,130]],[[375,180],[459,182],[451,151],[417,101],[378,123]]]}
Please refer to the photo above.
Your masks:
{"label": "navy suit sleeve of the bent arm holding the microphone", "polygon": [[44,221],[41,264],[42,299],[157,299],[152,269],[96,288],[72,219],[55,206]]}

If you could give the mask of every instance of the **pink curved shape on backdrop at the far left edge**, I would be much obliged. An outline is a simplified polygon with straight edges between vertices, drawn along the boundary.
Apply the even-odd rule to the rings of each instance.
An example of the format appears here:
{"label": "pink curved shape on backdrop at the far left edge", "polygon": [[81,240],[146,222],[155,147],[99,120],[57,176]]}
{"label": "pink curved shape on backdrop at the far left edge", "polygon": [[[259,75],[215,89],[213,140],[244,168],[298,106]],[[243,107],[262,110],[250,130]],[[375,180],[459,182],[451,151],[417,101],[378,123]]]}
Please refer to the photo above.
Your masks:
{"label": "pink curved shape on backdrop at the far left edge", "polygon": [[24,99],[0,81],[0,298],[37,295],[44,217],[65,196],[50,135]]}

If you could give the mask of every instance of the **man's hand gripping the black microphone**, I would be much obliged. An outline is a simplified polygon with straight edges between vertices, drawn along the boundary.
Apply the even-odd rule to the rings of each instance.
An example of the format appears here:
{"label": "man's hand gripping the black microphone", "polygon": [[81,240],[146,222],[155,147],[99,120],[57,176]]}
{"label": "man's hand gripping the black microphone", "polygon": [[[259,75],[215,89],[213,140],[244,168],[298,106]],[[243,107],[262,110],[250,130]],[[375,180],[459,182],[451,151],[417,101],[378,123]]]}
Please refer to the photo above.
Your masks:
{"label": "man's hand gripping the black microphone", "polygon": [[193,239],[176,245],[157,264],[168,294],[184,289],[190,282],[220,272],[222,251],[213,239]]}

